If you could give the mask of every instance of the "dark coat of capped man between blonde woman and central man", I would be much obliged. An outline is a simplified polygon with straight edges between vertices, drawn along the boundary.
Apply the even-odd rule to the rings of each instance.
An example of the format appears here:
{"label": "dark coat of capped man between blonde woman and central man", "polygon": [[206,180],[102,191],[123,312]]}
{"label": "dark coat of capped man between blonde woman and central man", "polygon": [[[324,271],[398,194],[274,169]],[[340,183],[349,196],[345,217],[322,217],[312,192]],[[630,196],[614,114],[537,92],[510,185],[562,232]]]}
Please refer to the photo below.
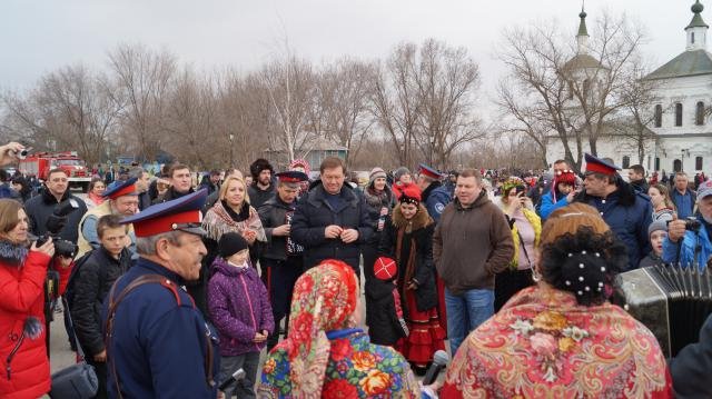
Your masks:
{"label": "dark coat of capped man between blonde woman and central man", "polygon": [[[267,237],[267,245],[261,251],[261,257],[267,259],[275,260],[287,260],[287,245],[288,242],[295,249],[296,255],[301,256],[304,249],[298,251],[300,246],[294,245],[291,239],[288,239],[284,236],[273,236],[273,230],[276,227],[281,225],[288,225],[294,217],[294,211],[297,208],[297,203],[286,203],[281,199],[279,199],[279,194],[275,194],[273,198],[268,199],[259,210],[259,219],[263,222],[263,228],[265,229],[265,236]],[[299,247],[299,248],[297,248]]]}

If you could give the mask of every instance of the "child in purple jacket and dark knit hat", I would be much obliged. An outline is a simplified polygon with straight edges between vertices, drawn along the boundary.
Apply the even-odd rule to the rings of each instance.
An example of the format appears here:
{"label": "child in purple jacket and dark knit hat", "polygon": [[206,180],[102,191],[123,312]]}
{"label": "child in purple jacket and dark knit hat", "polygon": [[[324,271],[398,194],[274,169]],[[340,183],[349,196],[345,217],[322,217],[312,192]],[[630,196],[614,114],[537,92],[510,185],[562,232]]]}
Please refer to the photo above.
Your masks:
{"label": "child in purple jacket and dark knit hat", "polygon": [[226,398],[255,398],[259,352],[275,329],[267,289],[250,267],[247,241],[228,232],[218,241],[208,283],[208,312],[220,336],[220,381],[237,369],[245,378],[230,385]]}

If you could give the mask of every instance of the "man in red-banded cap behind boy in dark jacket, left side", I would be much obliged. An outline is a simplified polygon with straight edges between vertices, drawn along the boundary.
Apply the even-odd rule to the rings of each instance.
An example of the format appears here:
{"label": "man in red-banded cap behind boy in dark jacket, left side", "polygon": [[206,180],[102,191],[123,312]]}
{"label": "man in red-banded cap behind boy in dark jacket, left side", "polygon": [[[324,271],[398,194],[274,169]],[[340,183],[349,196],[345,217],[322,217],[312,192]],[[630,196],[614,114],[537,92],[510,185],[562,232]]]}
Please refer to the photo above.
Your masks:
{"label": "man in red-banded cap behind boy in dark jacket, left side", "polygon": [[[138,212],[139,203],[136,182],[137,179],[131,178],[105,191],[102,197],[107,200],[85,213],[79,222],[79,251],[77,252],[77,257],[81,257],[90,250],[101,247],[101,239],[97,232],[99,218],[105,215],[129,217]],[[130,247],[129,251],[132,255],[136,253],[136,236],[130,225],[126,236],[126,246]]]}

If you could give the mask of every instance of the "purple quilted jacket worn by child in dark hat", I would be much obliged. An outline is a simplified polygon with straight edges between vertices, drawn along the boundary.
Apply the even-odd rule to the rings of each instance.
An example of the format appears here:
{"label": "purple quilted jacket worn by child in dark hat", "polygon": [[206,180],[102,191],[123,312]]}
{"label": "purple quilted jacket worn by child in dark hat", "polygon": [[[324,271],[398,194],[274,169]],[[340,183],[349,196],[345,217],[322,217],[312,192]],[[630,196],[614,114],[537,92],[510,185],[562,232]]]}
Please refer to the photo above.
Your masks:
{"label": "purple quilted jacket worn by child in dark hat", "polygon": [[275,329],[265,285],[254,268],[238,269],[220,257],[211,269],[208,312],[220,335],[220,355],[259,352],[266,342],[253,342],[255,332]]}

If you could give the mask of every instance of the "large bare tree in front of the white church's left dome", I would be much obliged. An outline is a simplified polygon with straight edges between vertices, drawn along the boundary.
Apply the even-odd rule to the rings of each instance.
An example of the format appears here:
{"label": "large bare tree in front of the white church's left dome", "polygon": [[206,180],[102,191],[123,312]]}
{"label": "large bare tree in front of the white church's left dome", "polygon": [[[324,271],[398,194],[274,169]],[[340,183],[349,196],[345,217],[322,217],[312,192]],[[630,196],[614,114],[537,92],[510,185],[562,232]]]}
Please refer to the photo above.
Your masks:
{"label": "large bare tree in front of the white church's left dome", "polygon": [[571,36],[562,36],[556,24],[515,28],[505,31],[497,52],[513,83],[510,97],[526,100],[513,103],[501,90],[500,103],[524,108],[515,112],[520,122],[527,114],[544,118],[576,170],[581,169],[584,141],[597,154],[606,120],[627,106],[622,94],[626,82],[635,79],[644,39],[642,29],[625,16],[603,13],[594,31],[592,44],[574,51]]}

